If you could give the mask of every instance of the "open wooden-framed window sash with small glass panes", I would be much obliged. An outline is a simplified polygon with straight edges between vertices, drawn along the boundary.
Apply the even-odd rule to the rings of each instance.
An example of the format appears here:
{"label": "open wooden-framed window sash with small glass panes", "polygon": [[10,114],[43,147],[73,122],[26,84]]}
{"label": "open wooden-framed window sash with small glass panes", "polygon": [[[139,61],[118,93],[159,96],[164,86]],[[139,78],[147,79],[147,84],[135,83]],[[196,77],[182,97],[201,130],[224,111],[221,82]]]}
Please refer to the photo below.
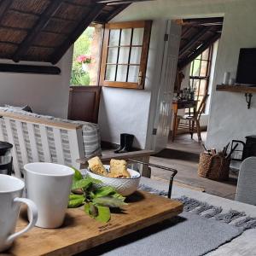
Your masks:
{"label": "open wooden-framed window sash with small glass panes", "polygon": [[100,85],[144,88],[151,24],[151,21],[106,24]]}

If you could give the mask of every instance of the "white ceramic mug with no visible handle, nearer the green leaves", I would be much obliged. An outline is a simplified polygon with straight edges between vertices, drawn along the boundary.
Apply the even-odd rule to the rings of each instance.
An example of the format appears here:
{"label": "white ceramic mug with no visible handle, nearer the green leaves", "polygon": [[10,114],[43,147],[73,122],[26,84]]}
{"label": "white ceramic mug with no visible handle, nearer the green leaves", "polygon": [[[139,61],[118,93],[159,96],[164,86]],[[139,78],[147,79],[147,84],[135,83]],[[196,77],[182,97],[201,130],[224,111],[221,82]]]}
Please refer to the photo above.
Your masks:
{"label": "white ceramic mug with no visible handle, nearer the green leaves", "polygon": [[30,163],[24,166],[26,197],[38,207],[36,226],[55,229],[63,224],[74,171],[52,163]]}

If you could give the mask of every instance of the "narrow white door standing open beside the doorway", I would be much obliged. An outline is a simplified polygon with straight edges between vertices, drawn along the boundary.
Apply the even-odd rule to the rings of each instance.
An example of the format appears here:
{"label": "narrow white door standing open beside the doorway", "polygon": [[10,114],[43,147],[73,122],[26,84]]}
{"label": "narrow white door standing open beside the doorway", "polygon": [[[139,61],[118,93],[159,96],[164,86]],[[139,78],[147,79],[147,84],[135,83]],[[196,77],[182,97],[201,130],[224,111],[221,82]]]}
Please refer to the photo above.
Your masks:
{"label": "narrow white door standing open beside the doorway", "polygon": [[154,128],[154,150],[166,148],[172,122],[172,97],[177,71],[177,58],[181,38],[181,25],[169,20],[166,29],[166,44],[158,91]]}

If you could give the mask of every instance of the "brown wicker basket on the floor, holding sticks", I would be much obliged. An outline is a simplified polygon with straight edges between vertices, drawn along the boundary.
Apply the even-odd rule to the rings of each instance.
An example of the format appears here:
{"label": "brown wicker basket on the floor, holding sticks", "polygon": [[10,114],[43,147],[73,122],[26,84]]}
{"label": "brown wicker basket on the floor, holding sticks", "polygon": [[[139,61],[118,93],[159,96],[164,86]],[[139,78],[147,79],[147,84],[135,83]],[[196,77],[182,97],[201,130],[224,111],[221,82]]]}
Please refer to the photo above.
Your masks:
{"label": "brown wicker basket on the floor, holding sticks", "polygon": [[198,175],[213,180],[228,180],[230,173],[230,158],[226,159],[221,154],[201,153]]}

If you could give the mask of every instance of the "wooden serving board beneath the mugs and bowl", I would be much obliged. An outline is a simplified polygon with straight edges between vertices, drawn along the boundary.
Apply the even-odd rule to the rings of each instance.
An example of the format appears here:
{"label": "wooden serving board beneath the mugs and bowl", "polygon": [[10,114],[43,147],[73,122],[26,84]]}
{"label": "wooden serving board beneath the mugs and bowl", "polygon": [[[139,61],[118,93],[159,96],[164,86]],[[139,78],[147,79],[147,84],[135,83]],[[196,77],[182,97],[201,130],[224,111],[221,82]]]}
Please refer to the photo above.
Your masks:
{"label": "wooden serving board beneath the mugs and bowl", "polygon": [[[67,209],[61,228],[49,230],[35,227],[20,236],[5,255],[72,255],[172,218],[183,211],[183,204],[178,201],[142,191],[131,195],[128,203],[123,212],[112,213],[108,224],[85,215],[83,207]],[[17,230],[27,224],[26,214],[23,213],[21,211]]]}

